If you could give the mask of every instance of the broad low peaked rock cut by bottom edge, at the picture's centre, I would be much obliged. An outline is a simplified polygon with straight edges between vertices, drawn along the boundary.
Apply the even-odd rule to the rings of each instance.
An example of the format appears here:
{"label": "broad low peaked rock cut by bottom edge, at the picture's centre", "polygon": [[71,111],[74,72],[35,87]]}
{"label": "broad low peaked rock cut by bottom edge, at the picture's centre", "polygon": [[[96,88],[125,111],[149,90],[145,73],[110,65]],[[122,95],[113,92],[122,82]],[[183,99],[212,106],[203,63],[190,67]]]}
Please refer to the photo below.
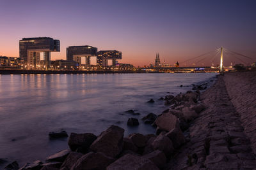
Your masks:
{"label": "broad low peaked rock cut by bottom edge, at the picture's centre", "polygon": [[158,167],[150,160],[137,155],[126,154],[107,167],[107,170],[156,170]]}

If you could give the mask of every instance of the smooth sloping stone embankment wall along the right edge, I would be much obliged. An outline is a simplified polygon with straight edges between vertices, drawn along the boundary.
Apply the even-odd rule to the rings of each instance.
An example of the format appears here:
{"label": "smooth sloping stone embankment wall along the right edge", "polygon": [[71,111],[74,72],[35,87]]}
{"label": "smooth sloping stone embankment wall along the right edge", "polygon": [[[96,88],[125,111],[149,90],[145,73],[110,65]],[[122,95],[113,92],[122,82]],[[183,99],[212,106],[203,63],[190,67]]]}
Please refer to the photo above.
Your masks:
{"label": "smooth sloping stone embankment wall along the right edge", "polygon": [[228,95],[241,116],[244,132],[256,153],[256,71],[224,76]]}

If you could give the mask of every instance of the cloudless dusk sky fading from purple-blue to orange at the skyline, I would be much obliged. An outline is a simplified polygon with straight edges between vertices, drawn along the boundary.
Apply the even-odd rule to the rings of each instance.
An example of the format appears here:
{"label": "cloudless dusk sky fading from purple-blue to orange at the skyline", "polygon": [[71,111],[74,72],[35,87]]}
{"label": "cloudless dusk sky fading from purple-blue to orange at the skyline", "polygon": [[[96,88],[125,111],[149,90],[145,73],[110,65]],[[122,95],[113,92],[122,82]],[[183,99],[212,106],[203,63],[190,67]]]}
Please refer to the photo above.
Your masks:
{"label": "cloudless dusk sky fading from purple-blue to orange at the skyline", "polygon": [[[256,59],[256,1],[0,0],[0,55],[19,57],[19,40],[47,36],[66,48],[122,52],[134,66],[171,65],[224,46]],[[209,57],[211,58],[211,56]]]}

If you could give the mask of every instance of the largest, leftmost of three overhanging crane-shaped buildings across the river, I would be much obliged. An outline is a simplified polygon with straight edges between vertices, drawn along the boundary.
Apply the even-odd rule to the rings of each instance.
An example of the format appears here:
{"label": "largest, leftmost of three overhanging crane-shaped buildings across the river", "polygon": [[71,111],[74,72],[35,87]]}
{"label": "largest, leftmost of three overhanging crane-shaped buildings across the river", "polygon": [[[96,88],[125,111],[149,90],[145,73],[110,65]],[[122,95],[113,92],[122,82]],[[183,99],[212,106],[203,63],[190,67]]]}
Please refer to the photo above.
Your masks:
{"label": "largest, leftmost of three overhanging crane-shaped buildings across the river", "polygon": [[20,58],[28,64],[28,69],[40,67],[40,53],[44,53],[45,69],[50,67],[51,52],[60,52],[60,40],[49,37],[22,38],[19,41]]}

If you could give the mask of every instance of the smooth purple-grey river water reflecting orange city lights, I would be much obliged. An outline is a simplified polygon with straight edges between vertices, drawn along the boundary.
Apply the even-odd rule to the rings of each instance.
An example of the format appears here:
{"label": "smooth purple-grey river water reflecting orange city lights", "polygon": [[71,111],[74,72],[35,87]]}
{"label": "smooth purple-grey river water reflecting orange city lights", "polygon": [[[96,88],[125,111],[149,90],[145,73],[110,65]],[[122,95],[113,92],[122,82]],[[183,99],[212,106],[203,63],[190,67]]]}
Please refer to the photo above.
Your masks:
{"label": "smooth purple-grey river water reflecting orange city lights", "polygon": [[[159,97],[191,90],[215,73],[188,74],[19,74],[0,75],[0,159],[22,166],[68,148],[51,131],[100,132],[115,124],[132,132],[154,133],[140,120],[165,110]],[[183,87],[180,87],[183,85]],[[188,86],[188,87],[186,87]],[[170,92],[170,93],[168,93]],[[154,99],[154,104],[147,103]],[[140,115],[125,113],[136,110]],[[127,127],[127,119],[140,120]],[[3,164],[2,164],[3,166]],[[0,165],[1,167],[1,165]]]}

